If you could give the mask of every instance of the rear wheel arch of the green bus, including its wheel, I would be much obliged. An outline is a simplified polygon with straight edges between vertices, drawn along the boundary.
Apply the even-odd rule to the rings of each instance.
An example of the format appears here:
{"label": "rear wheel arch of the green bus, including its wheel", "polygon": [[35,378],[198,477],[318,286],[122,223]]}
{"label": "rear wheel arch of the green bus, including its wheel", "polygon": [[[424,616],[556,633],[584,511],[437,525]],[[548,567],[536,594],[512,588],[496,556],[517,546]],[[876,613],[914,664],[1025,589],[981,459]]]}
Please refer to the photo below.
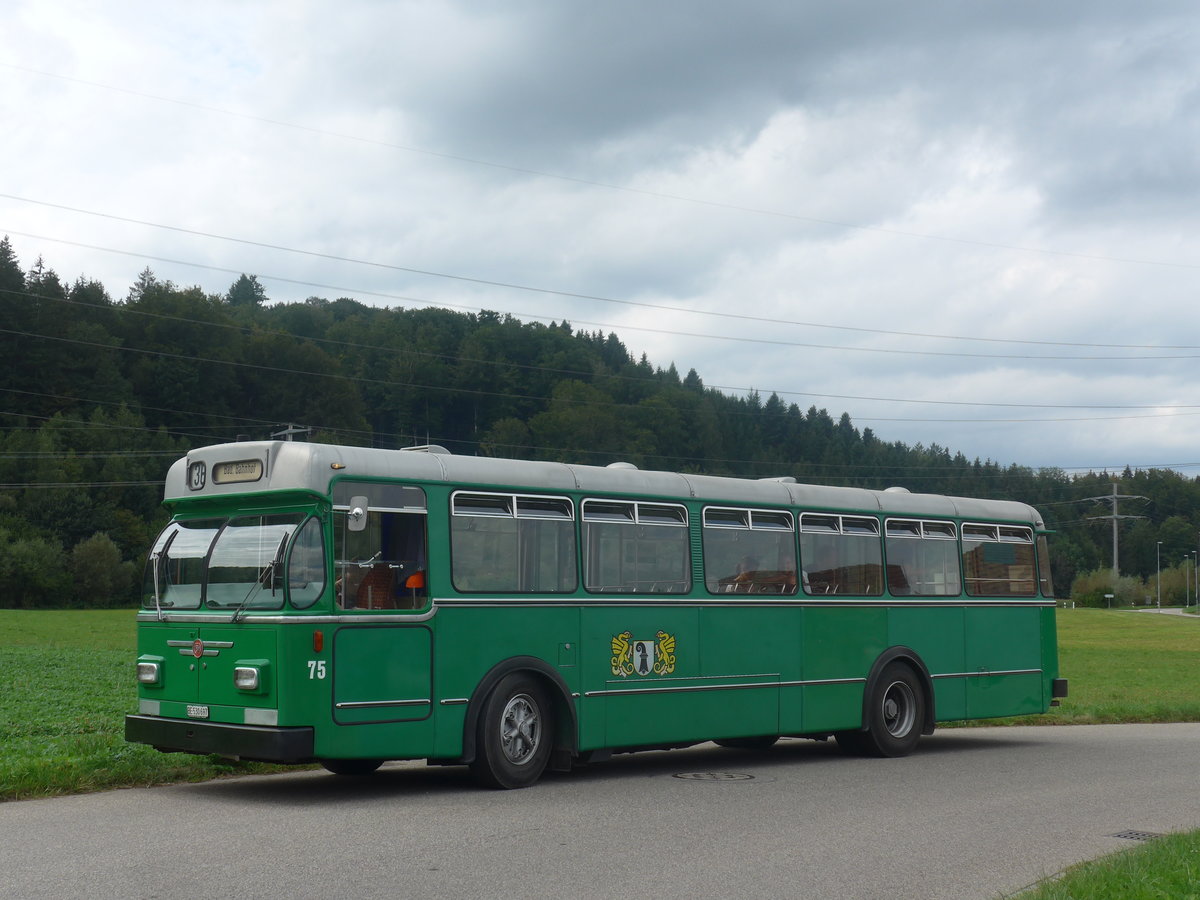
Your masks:
{"label": "rear wheel arch of the green bus, including its wheel", "polygon": [[863,724],[838,733],[839,745],[868,756],[907,756],[934,733],[934,682],[920,656],[893,647],[871,666],[863,690]]}

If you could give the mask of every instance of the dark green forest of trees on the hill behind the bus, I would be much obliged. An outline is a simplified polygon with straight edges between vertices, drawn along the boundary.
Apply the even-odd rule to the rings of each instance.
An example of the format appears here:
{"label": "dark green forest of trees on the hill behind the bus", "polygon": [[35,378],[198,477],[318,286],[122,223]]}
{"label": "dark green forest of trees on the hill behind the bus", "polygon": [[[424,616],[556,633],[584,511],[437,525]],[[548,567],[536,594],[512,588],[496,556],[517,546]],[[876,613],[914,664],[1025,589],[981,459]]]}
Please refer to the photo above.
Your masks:
{"label": "dark green forest of trees on the hill behind the bus", "polygon": [[[193,446],[306,439],[457,454],[1016,499],[1055,529],[1060,596],[1112,593],[1111,524],[1123,500],[1118,599],[1182,602],[1200,536],[1200,482],[1170,469],[1068,475],[907,446],[845,413],[706,388],[613,335],[494,312],[382,308],[310,298],[271,304],[253,276],[224,295],[149,269],[124,299],[23,271],[0,241],[0,606],[126,605],[166,521],[162,479]],[[1159,547],[1162,542],[1162,547]],[[1148,581],[1147,581],[1148,580]],[[1105,584],[1109,587],[1105,589]]]}

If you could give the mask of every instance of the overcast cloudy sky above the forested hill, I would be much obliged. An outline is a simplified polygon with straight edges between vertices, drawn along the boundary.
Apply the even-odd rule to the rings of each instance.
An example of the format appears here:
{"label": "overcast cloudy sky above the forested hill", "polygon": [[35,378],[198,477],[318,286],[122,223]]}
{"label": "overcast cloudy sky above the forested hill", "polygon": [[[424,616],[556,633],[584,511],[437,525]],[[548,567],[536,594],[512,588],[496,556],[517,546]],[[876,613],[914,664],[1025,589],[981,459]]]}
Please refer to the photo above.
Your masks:
{"label": "overcast cloudy sky above the forested hill", "polygon": [[26,269],[565,318],[886,440],[1200,473],[1194,0],[0,8]]}

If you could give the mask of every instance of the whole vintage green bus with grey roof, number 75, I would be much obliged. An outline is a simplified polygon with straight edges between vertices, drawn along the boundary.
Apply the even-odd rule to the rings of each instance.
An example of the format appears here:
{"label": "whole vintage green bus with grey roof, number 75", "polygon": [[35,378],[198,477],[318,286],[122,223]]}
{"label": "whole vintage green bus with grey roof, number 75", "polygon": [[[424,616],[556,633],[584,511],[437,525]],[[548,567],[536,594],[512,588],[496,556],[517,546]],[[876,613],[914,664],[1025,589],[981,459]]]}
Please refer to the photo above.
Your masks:
{"label": "whole vintage green bus with grey roof, number 75", "polygon": [[167,475],[138,613],[163,751],[523,787],[614,751],[1045,712],[1045,527],[1021,503],[299,442]]}

